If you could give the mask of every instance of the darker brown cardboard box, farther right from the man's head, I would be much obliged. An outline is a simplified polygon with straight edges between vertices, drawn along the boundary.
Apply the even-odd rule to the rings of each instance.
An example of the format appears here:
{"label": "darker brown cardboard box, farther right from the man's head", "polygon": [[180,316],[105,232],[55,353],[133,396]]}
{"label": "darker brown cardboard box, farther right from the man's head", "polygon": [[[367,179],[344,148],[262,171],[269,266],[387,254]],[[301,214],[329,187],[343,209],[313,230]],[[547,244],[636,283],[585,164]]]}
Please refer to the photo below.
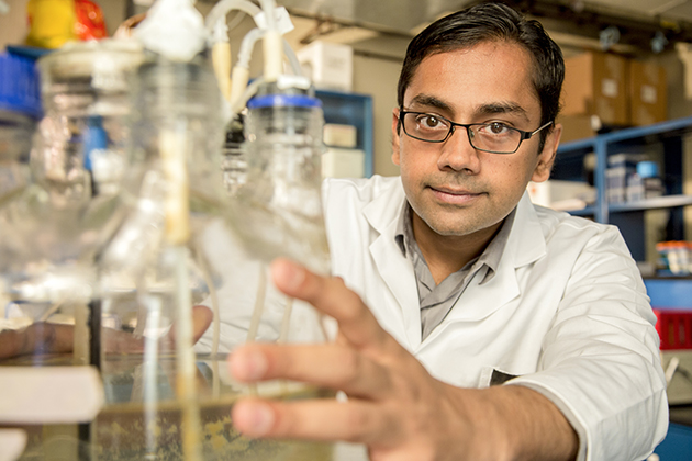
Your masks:
{"label": "darker brown cardboard box, farther right from the man's head", "polygon": [[629,120],[650,125],[668,119],[666,69],[654,63],[628,61]]}

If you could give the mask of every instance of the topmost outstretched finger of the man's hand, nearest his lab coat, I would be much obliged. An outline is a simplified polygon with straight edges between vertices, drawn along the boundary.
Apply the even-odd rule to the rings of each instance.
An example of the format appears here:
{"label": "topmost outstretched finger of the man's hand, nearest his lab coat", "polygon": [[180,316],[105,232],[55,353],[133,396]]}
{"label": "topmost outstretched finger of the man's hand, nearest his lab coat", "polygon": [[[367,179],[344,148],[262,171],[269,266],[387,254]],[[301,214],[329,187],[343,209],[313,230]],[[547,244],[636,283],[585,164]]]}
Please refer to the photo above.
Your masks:
{"label": "topmost outstretched finger of the man's hand, nearest his lab coat", "polygon": [[276,286],[284,294],[308,301],[319,311],[334,317],[339,331],[354,346],[361,348],[393,341],[360,296],[346,288],[341,279],[316,276],[281,258],[271,263],[271,276]]}

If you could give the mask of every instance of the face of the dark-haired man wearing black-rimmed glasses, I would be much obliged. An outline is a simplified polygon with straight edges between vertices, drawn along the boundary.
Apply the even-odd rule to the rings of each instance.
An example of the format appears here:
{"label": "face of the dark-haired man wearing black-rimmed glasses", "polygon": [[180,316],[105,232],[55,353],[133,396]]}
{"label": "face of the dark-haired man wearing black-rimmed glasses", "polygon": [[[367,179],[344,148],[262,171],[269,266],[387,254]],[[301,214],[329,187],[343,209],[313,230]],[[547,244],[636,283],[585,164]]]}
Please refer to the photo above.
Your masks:
{"label": "face of the dark-haired man wearing black-rimmed glasses", "polygon": [[[540,104],[531,69],[528,53],[504,42],[431,55],[404,93],[404,110],[533,132],[540,126]],[[528,181],[548,178],[560,133],[556,127],[548,135],[542,153],[536,134],[514,154],[490,154],[471,147],[462,127],[444,143],[411,138],[397,131],[398,116],[395,109],[392,159],[414,211],[414,229],[423,224],[442,236],[493,233]]]}

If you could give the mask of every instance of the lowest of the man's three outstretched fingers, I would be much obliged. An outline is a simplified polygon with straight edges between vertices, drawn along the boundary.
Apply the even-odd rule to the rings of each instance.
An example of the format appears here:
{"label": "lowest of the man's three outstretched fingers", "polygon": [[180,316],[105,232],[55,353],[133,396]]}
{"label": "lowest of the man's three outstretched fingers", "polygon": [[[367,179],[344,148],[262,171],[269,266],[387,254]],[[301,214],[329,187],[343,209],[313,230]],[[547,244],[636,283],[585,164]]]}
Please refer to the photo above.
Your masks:
{"label": "lowest of the man's three outstretched fingers", "polygon": [[383,448],[401,439],[397,420],[376,404],[362,401],[248,398],[234,405],[232,419],[235,428],[248,437],[343,440]]}

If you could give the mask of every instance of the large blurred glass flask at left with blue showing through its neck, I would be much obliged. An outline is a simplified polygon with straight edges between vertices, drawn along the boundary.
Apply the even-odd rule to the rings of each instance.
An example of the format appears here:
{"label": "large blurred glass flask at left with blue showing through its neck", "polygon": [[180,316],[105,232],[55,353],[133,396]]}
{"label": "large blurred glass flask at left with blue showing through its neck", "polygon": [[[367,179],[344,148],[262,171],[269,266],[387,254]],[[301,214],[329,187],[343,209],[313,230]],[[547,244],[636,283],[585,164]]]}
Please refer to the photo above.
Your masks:
{"label": "large blurred glass flask at left with blue showing through its neck", "polygon": [[[46,323],[71,324],[74,363],[89,362],[94,258],[124,217],[127,76],[141,58],[137,46],[107,41],[70,44],[38,60],[44,116],[30,156],[32,183],[0,210],[5,328],[31,326],[41,338]],[[41,341],[36,348],[45,352]]]}

